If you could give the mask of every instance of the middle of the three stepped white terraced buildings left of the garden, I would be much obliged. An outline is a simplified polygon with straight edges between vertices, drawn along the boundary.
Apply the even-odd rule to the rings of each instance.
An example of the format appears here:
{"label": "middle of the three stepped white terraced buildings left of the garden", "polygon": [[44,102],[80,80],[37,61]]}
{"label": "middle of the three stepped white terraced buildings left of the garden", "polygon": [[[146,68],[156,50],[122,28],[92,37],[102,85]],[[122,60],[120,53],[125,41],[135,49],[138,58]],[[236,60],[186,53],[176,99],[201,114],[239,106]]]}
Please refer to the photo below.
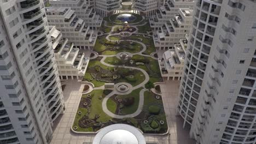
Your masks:
{"label": "middle of the three stepped white terraced buildings left of the garden", "polygon": [[67,38],[75,48],[93,49],[97,31],[91,30],[85,25],[85,21],[79,18],[71,8],[48,7],[46,15],[50,26],[55,26],[61,31],[62,37]]}

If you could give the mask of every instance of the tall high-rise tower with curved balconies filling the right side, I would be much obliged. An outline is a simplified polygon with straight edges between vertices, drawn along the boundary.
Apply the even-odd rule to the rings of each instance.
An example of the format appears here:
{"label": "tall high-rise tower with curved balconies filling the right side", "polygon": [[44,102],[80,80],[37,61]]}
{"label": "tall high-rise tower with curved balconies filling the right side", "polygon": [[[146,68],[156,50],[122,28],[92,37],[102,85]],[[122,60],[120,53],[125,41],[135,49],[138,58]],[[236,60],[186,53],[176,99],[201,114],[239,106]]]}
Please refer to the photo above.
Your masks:
{"label": "tall high-rise tower with curved balconies filling the right side", "polygon": [[178,112],[197,143],[255,143],[256,1],[198,0]]}

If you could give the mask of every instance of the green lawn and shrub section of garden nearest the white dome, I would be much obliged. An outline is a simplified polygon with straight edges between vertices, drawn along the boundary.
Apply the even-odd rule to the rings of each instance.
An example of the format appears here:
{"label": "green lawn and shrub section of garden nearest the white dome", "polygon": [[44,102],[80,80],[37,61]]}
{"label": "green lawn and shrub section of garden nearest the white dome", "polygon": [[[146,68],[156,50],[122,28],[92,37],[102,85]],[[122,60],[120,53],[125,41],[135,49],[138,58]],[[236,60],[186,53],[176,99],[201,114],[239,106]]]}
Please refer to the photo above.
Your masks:
{"label": "green lawn and shrub section of garden nearest the white dome", "polygon": [[[124,97],[122,99],[134,97],[133,103],[123,106],[123,112],[133,113],[137,110],[139,101],[137,97],[140,90],[141,88],[136,89],[129,95],[115,95],[115,97]],[[102,99],[110,92],[111,91],[109,90],[92,91],[89,98],[91,100],[91,105],[88,107],[83,106],[84,99],[88,99],[87,94],[82,96],[77,115],[75,116],[73,123],[73,128],[77,127],[75,131],[96,132],[97,130],[111,124],[124,123],[139,128],[143,133],[147,134],[164,134],[167,132],[168,126],[161,97],[160,99],[156,99],[155,94],[151,92],[144,92],[142,112],[136,117],[117,119],[108,116],[102,110]],[[100,98],[100,96],[102,98]],[[108,110],[113,113],[116,113],[117,109],[120,108],[120,105],[112,98],[108,99],[107,106]]]}

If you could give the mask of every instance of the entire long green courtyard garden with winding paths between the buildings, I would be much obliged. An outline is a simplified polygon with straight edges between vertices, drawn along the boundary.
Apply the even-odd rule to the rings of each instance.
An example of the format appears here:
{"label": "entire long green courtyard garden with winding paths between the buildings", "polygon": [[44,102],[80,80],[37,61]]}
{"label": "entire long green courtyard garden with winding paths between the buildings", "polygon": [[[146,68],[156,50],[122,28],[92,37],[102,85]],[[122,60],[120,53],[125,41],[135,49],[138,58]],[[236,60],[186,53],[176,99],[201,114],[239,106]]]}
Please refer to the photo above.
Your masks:
{"label": "entire long green courtyard garden with winding paths between the buildings", "polygon": [[[94,47],[98,57],[90,60],[83,79],[94,88],[88,92],[90,87],[84,86],[88,93],[80,100],[74,131],[96,132],[116,123],[133,125],[148,134],[168,131],[161,90],[154,84],[162,78],[158,60],[152,57],[156,50],[151,29],[144,17],[131,15],[132,26],[124,23],[128,18],[123,13],[104,18],[103,34]],[[108,88],[106,83],[114,85]]]}

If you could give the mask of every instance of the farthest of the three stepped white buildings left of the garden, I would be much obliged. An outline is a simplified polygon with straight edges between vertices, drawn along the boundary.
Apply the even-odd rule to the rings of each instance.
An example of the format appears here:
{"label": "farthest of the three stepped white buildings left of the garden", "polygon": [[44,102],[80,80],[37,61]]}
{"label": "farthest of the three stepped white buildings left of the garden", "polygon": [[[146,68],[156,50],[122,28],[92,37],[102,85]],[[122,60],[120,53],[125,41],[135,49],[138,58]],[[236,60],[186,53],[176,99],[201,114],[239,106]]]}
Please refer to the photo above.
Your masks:
{"label": "farthest of the three stepped white buildings left of the garden", "polygon": [[97,29],[101,26],[103,19],[96,14],[94,1],[50,0],[49,2],[51,7],[70,7],[80,19],[84,20],[85,26],[89,26],[90,29]]}

